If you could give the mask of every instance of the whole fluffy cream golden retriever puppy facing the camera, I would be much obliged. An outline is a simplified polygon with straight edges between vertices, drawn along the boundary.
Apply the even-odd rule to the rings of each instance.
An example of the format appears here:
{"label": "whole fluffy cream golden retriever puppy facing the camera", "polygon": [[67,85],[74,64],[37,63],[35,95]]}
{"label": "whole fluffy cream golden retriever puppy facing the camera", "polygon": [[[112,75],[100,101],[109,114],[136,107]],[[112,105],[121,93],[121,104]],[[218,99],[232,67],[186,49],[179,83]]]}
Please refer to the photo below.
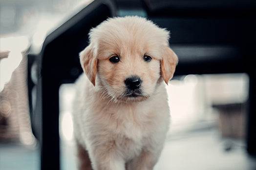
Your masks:
{"label": "whole fluffy cream golden retriever puppy facing the camera", "polygon": [[153,169],[170,121],[165,83],[178,62],[168,40],[140,17],[90,30],[73,110],[80,170]]}

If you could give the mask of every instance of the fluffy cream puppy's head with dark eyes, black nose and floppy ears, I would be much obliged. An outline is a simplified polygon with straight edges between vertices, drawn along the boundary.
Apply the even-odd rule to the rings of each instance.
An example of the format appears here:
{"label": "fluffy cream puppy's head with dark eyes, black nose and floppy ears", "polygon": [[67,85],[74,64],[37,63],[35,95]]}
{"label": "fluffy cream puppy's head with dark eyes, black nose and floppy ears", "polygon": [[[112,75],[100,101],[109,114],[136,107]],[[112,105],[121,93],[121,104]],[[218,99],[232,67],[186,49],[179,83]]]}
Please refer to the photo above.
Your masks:
{"label": "fluffy cream puppy's head with dark eyes, black nose and floppy ears", "polygon": [[80,62],[93,85],[113,101],[142,101],[168,84],[178,62],[169,32],[140,17],[112,18],[89,33]]}

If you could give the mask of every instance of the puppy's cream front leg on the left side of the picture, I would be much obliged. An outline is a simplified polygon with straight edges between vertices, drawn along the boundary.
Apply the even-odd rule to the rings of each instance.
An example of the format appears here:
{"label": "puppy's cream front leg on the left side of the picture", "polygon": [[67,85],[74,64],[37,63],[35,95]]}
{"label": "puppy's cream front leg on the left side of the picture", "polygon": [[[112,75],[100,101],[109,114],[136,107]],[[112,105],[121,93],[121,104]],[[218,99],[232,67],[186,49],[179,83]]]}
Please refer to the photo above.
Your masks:
{"label": "puppy's cream front leg on the left side of the picture", "polygon": [[114,142],[92,147],[89,151],[93,170],[125,170],[125,161]]}

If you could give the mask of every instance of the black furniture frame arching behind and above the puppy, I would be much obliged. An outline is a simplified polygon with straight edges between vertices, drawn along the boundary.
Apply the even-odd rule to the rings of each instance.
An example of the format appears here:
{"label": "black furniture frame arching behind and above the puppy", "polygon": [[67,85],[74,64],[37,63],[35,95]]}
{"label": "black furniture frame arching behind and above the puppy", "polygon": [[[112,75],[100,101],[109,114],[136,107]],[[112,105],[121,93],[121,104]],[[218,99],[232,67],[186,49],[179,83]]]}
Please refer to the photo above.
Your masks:
{"label": "black furniture frame arching behind and above the puppy", "polygon": [[[249,75],[246,141],[248,153],[256,154],[254,0],[95,0],[49,34],[39,54],[28,55],[31,121],[41,146],[41,169],[60,169],[59,87],[82,73],[78,54],[88,43],[89,29],[108,17],[131,14],[171,31],[171,48],[179,57],[175,75]],[[30,76],[35,64],[36,83]]]}

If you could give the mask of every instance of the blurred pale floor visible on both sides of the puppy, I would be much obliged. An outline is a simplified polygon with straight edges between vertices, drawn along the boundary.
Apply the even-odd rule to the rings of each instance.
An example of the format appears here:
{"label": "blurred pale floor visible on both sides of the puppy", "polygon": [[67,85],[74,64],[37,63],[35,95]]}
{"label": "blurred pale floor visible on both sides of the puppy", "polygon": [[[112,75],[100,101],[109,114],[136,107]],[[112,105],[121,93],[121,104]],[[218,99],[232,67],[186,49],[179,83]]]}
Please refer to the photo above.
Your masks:
{"label": "blurred pale floor visible on both sides of the puppy", "polygon": [[[62,170],[76,170],[74,143],[62,142]],[[38,170],[38,149],[0,144],[0,170]],[[154,170],[256,170],[242,141],[219,138],[215,129],[174,135],[167,139]]]}

